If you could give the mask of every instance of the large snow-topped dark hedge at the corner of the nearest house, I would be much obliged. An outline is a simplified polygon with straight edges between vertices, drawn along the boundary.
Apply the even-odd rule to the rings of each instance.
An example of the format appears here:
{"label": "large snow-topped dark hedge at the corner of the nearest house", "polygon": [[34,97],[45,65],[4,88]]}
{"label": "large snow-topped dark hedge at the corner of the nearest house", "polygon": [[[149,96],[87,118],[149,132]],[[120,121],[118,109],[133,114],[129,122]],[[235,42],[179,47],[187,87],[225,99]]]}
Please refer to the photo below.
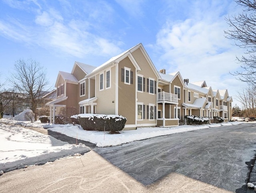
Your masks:
{"label": "large snow-topped dark hedge at the corner of the nearest house", "polygon": [[110,133],[121,131],[126,123],[126,118],[120,115],[78,114],[71,118],[78,119],[84,130],[105,130]]}

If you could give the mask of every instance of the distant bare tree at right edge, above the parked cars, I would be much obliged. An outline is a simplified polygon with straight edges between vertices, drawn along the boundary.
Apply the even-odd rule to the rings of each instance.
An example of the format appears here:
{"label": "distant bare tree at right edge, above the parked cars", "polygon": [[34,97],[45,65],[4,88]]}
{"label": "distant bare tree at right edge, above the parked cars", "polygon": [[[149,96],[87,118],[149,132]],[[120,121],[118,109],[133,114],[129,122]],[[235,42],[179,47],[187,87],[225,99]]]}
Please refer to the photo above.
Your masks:
{"label": "distant bare tree at right edge, above the parked cars", "polygon": [[244,116],[256,115],[256,87],[248,86],[238,92],[236,99],[243,104]]}

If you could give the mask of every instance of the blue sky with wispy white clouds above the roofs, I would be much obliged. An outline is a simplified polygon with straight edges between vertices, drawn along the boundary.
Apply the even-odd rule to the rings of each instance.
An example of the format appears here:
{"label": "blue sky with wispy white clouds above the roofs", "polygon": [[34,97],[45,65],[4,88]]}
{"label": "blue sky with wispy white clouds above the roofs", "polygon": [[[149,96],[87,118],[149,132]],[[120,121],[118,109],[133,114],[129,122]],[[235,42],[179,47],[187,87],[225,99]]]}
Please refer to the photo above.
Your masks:
{"label": "blue sky with wispy white clouds above the roofs", "polygon": [[75,61],[98,67],[142,43],[158,71],[228,89],[242,107],[246,85],[230,73],[245,50],[224,37],[225,17],[241,12],[232,0],[0,0],[0,81],[32,58],[53,89]]}

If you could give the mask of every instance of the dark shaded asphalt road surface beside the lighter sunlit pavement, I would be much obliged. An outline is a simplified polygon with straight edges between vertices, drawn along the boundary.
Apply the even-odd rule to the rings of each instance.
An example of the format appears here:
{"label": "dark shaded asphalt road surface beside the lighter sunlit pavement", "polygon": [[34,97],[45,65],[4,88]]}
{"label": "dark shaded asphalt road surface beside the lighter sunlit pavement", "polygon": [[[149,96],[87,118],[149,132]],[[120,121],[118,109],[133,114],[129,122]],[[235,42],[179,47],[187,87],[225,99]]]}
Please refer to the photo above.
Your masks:
{"label": "dark shaded asphalt road surface beside the lighter sunlit pavement", "polygon": [[144,185],[178,173],[246,192],[247,164],[256,154],[256,124],[196,130],[94,151]]}

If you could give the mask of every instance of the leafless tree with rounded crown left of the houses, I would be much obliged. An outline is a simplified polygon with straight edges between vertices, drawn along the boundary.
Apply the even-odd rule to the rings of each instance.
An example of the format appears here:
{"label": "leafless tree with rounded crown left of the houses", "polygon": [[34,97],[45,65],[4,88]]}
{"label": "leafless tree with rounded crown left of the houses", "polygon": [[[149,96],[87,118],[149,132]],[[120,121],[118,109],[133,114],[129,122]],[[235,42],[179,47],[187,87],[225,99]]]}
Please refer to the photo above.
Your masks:
{"label": "leafless tree with rounded crown left of the houses", "polygon": [[48,86],[45,72],[46,70],[40,66],[38,61],[20,59],[14,64],[14,73],[9,78],[19,93],[28,95],[28,102],[35,114],[35,120],[37,120],[36,107],[45,95],[44,89]]}

